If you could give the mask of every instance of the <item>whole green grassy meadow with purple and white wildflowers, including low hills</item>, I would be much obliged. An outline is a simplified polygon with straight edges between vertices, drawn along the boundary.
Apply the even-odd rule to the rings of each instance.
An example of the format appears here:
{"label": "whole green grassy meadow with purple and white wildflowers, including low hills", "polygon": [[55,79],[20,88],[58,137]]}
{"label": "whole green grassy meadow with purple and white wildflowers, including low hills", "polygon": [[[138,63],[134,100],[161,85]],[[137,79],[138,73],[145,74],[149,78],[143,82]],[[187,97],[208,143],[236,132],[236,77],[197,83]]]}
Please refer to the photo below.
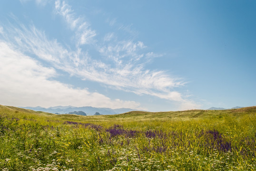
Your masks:
{"label": "whole green grassy meadow with purple and white wildflowers, including low hills", "polygon": [[255,171],[256,107],[79,116],[0,105],[2,171]]}

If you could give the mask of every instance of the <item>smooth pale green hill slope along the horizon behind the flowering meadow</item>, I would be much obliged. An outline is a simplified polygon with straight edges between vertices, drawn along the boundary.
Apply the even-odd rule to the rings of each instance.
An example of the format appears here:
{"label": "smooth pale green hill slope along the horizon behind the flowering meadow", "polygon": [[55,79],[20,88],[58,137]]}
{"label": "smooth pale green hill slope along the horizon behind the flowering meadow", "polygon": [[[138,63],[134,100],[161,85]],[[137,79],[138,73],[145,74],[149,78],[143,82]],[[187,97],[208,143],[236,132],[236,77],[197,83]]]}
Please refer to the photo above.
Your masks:
{"label": "smooth pale green hill slope along the horizon behind the flowering meadow", "polygon": [[[241,115],[241,114],[255,114],[256,106],[253,107],[244,107],[238,109],[229,109],[229,110],[187,110],[187,111],[176,111],[176,112],[145,112],[145,111],[130,111],[123,114],[114,114],[114,115],[90,115],[90,116],[82,116],[82,115],[74,115],[74,114],[51,114],[48,112],[41,111],[32,111],[30,109],[12,107],[12,106],[3,106],[0,105],[1,108],[12,109],[14,111],[25,112],[25,113],[33,113],[39,115],[45,115],[51,117],[51,119],[57,120],[74,120],[76,121],[86,121],[86,122],[133,122],[133,121],[168,121],[168,120],[189,120],[196,118],[215,118],[215,117],[223,117],[223,116],[233,116],[233,115]],[[114,120],[113,120],[114,119]],[[115,121],[115,122],[113,122]]]}

